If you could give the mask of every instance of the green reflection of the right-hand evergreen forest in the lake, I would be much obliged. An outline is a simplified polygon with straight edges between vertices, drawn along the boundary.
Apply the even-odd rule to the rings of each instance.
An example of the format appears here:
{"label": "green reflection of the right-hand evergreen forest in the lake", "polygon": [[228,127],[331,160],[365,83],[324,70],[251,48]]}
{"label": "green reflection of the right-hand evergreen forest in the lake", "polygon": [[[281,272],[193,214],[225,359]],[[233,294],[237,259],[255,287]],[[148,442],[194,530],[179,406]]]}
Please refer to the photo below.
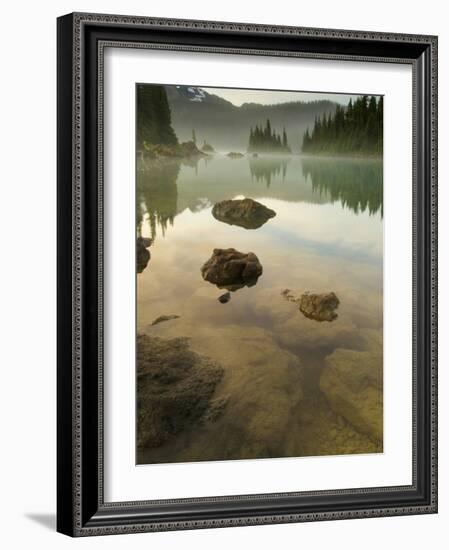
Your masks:
{"label": "green reflection of the right-hand evergreen forest in the lake", "polygon": [[383,216],[381,162],[304,159],[302,171],[305,178],[310,177],[315,193],[327,194],[356,214],[365,210],[375,214],[380,209]]}

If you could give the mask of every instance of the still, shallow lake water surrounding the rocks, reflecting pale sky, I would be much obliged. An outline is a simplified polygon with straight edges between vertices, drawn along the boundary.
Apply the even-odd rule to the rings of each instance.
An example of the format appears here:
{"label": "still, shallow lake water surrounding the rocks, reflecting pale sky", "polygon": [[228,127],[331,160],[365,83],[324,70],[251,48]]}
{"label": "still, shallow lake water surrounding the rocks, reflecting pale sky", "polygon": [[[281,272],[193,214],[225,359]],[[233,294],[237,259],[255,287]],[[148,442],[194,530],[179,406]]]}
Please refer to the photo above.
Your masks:
{"label": "still, shallow lake water surrounding the rocks, reflecting pale sky", "polygon": [[[212,216],[216,202],[243,197],[276,216],[254,230]],[[214,398],[227,403],[214,422],[139,449],[139,463],[382,450],[363,425],[382,414],[381,396],[374,413],[361,411],[361,424],[320,389],[326,357],[336,349],[381,357],[382,210],[379,160],[216,155],[190,164],[139,162],[138,234],[153,244],[137,276],[138,332],[189,337],[192,350],[224,368]],[[254,252],[263,274],[222,304],[225,290],[204,281],[200,268],[214,248],[229,247]],[[335,292],[338,318],[305,318],[281,295],[286,288],[298,297]],[[152,325],[161,315],[179,318]],[[354,406],[361,395],[354,394]]]}

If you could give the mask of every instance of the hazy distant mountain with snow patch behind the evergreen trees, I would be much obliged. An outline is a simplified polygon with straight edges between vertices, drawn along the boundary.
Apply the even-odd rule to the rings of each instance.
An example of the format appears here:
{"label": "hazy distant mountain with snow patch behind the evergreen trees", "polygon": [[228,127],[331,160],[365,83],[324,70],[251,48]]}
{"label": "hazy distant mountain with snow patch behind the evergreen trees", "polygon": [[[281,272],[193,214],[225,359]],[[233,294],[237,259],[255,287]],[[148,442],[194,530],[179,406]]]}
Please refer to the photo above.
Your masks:
{"label": "hazy distant mountain with snow patch behind the evergreen trees", "polygon": [[332,101],[290,101],[273,105],[244,103],[240,107],[196,86],[165,86],[171,110],[171,122],[179,141],[192,139],[195,130],[198,143],[204,140],[218,151],[246,151],[251,127],[264,126],[269,118],[273,130],[285,127],[288,143],[294,153],[300,151],[307,128],[316,116],[334,113]]}

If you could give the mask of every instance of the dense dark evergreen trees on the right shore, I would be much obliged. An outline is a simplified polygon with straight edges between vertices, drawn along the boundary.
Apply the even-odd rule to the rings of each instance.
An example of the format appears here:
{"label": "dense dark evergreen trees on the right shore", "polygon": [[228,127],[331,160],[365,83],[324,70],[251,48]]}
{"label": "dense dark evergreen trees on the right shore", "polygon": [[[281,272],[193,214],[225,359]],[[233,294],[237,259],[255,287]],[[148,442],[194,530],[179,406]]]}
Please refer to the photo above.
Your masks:
{"label": "dense dark evergreen trees on the right shore", "polygon": [[315,118],[306,130],[303,153],[381,155],[383,151],[383,98],[361,96],[334,114]]}

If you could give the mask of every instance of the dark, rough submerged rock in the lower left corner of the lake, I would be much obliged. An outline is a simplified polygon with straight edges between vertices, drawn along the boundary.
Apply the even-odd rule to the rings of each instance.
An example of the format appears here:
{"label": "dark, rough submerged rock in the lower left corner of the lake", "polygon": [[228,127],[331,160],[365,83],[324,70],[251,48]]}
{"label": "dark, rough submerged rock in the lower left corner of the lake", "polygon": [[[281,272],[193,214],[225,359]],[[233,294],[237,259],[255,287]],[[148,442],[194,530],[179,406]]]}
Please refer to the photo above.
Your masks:
{"label": "dark, rough submerged rock in the lower left corner of the lake", "polygon": [[137,445],[153,448],[208,419],[225,403],[213,401],[223,368],[193,352],[187,338],[137,337]]}

